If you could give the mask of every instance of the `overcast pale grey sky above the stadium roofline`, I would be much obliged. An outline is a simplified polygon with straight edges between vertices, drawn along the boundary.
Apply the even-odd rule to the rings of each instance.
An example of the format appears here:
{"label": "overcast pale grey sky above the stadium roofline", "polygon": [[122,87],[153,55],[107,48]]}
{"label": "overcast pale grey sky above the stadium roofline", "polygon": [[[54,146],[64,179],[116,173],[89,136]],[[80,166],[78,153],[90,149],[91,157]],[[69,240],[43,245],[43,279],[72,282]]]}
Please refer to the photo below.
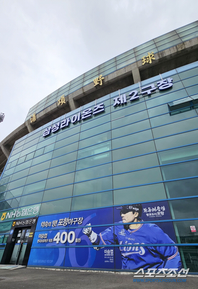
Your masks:
{"label": "overcast pale grey sky above the stadium roofline", "polygon": [[51,92],[197,11],[195,0],[0,0],[0,142]]}

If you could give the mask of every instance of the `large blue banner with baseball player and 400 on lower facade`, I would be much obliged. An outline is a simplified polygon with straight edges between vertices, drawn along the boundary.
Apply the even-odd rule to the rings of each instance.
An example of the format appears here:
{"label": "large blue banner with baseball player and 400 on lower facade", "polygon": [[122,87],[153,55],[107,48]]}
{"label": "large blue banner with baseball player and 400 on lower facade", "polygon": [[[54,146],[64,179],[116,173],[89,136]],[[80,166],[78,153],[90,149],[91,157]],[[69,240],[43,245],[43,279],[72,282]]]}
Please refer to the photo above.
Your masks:
{"label": "large blue banner with baseball player and 400 on lower facade", "polygon": [[171,220],[167,201],[42,216],[28,265],[46,260],[45,266],[67,268],[179,269],[173,224],[164,220]]}

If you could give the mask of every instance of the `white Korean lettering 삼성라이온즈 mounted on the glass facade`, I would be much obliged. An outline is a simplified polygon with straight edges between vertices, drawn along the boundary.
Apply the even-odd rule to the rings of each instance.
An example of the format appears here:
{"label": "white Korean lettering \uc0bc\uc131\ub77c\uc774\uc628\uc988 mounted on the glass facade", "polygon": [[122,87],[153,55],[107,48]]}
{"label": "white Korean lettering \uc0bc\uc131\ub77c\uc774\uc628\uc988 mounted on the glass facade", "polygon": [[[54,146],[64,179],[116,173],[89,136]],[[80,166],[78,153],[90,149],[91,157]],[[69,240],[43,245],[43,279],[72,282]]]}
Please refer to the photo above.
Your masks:
{"label": "white Korean lettering \uc0bc\uc131\ub77c\uc774\uc628\uc988 mounted on the glass facade", "polygon": [[77,121],[87,119],[91,117],[92,115],[96,115],[98,113],[101,113],[104,111],[104,103],[97,104],[94,106],[93,110],[91,108],[85,109],[78,114],[74,114],[71,118],[67,117],[64,120],[59,121],[56,123],[53,127],[46,128],[43,137],[50,135],[51,132],[57,132],[61,128],[66,128],[69,126],[70,123],[75,124]]}

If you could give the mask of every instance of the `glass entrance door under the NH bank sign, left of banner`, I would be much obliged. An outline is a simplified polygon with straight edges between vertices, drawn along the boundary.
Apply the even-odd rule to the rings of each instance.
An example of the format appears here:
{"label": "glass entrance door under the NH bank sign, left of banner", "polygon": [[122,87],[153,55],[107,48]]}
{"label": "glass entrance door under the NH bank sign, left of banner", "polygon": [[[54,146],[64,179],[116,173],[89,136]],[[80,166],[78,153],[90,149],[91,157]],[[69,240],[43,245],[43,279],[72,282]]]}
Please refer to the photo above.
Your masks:
{"label": "glass entrance door under the NH bank sign, left of banner", "polygon": [[20,228],[17,233],[15,246],[12,252],[10,264],[21,265],[27,247],[27,240],[29,238],[30,228]]}

